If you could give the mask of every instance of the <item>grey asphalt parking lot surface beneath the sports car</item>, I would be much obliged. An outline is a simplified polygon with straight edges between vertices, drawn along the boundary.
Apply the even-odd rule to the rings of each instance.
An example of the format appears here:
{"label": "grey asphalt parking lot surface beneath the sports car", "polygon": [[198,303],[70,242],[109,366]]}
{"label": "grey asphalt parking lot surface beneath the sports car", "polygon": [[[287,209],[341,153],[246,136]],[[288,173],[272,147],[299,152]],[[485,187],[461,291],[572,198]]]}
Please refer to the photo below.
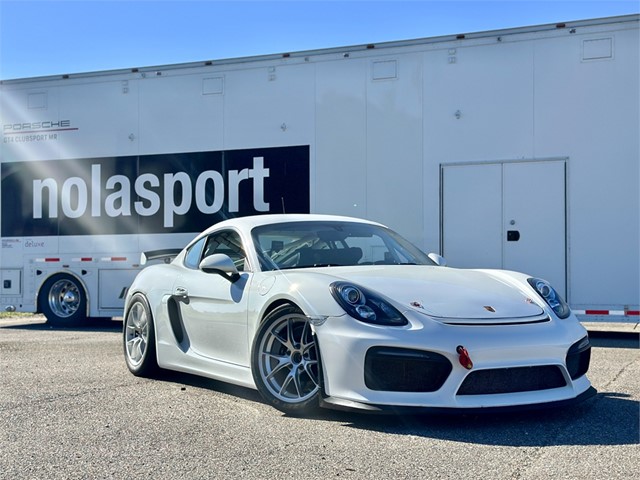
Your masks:
{"label": "grey asphalt parking lot surface beneath the sports car", "polygon": [[598,395],[571,408],[294,418],[253,390],[134,377],[121,329],[0,318],[0,478],[638,478],[637,335],[593,335]]}

